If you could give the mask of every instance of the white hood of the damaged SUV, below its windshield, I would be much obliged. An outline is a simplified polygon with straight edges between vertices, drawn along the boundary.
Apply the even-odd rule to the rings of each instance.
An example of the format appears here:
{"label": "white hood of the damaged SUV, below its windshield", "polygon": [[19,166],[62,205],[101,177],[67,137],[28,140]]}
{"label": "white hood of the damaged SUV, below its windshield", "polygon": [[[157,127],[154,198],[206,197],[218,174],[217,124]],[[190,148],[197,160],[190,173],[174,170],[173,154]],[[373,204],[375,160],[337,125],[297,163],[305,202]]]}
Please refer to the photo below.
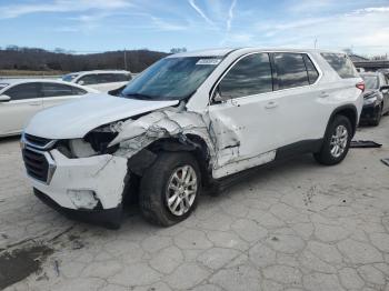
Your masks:
{"label": "white hood of the damaged SUV, below its windshield", "polygon": [[83,138],[102,124],[131,118],[179,101],[146,101],[99,94],[81,98],[37,113],[24,132],[47,139]]}

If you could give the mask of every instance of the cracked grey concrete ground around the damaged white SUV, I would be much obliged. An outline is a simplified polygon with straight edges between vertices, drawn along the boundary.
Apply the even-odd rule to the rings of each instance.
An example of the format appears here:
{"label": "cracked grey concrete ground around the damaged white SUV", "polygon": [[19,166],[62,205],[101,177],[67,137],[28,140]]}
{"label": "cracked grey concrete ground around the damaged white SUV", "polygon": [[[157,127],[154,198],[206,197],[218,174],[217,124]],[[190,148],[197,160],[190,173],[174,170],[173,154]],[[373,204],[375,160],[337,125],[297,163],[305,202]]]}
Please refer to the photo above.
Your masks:
{"label": "cracked grey concrete ground around the damaged white SUV", "polygon": [[118,231],[38,201],[18,140],[2,140],[0,253],[52,250],[6,290],[389,290],[388,127],[359,129],[382,148],[352,149],[339,165],[298,157],[201,197],[178,225],[150,225],[132,207]]}

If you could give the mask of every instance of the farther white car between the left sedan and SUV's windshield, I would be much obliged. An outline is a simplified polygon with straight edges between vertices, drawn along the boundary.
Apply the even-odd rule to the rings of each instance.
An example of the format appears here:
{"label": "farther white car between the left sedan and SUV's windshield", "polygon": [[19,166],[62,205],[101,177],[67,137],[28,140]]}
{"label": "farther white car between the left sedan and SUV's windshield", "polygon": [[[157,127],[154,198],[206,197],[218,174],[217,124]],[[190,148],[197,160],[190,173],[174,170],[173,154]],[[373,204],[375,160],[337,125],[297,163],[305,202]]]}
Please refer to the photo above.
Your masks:
{"label": "farther white car between the left sedan and SUV's windshield", "polygon": [[100,92],[116,90],[126,86],[131,79],[129,71],[119,70],[73,72],[62,77],[62,81],[87,86]]}

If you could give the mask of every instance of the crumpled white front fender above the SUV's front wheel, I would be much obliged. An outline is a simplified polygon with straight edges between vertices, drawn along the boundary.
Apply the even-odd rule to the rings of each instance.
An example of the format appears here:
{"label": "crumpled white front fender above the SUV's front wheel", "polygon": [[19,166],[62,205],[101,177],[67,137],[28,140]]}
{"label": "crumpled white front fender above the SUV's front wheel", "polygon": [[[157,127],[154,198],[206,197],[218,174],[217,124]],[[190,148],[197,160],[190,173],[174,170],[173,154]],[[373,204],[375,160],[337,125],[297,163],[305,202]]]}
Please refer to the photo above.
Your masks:
{"label": "crumpled white front fender above the SUV's front wheel", "polygon": [[[137,120],[120,122],[118,136],[109,147],[119,144],[114,155],[131,158],[152,142],[160,139],[174,138],[187,146],[197,146],[189,136],[199,137],[207,146],[209,168],[217,169],[235,160],[239,151],[232,151],[231,157],[226,155],[232,148],[239,147],[240,142],[232,127],[220,122],[211,122],[208,114],[187,111],[180,108],[168,108],[151,112]],[[225,152],[225,153],[223,153]],[[222,154],[219,154],[222,153]],[[221,159],[220,159],[221,158]]]}

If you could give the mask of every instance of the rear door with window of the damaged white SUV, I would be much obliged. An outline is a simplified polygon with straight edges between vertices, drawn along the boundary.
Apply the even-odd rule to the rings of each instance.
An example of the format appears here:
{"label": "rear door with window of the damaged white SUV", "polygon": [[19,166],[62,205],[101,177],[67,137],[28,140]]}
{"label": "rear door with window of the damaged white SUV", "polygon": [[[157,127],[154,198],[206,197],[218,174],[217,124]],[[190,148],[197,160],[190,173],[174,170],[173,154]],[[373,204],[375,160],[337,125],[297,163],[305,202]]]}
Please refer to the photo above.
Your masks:
{"label": "rear door with window of the damaged white SUV", "polygon": [[[323,137],[327,124],[322,111],[325,88],[315,84],[319,71],[306,53],[275,52],[273,67],[277,74],[276,94],[279,98],[280,146],[289,146]],[[298,146],[298,144],[296,144]]]}

